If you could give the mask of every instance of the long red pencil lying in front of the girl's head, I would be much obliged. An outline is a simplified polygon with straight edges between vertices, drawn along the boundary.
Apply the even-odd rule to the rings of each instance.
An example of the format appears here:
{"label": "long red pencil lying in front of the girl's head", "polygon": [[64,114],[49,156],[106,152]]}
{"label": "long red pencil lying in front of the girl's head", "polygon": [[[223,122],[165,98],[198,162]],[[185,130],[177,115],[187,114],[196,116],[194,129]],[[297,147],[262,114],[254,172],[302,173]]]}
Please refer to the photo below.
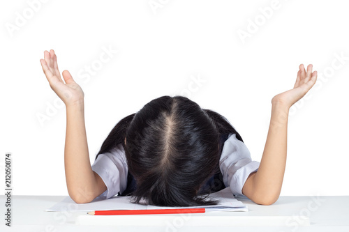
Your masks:
{"label": "long red pencil lying in front of the girl's head", "polygon": [[163,210],[95,210],[87,212],[89,215],[163,215],[172,213],[203,213],[205,208],[181,208]]}

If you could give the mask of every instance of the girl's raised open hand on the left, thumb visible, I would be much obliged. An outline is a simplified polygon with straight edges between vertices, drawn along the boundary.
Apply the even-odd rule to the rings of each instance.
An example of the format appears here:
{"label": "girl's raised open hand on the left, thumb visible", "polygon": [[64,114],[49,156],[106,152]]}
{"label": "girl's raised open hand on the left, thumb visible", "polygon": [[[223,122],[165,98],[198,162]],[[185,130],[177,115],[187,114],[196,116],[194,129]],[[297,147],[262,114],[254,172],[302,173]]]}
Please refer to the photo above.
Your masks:
{"label": "girl's raised open hand on the left, thumb visible", "polygon": [[44,59],[40,59],[40,63],[47,81],[50,83],[50,87],[61,98],[66,107],[84,101],[82,88],[74,81],[68,70],[62,72],[64,82],[66,83],[61,79],[57,65],[57,56],[54,54],[54,50],[50,50],[50,52],[45,51]]}

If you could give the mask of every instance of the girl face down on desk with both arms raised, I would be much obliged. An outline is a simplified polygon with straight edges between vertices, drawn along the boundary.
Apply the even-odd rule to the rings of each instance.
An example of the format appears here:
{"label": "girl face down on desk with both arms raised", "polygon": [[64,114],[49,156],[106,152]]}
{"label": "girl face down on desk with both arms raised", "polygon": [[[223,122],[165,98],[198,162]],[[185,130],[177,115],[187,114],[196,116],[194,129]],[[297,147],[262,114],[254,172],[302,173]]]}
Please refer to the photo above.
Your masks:
{"label": "girl face down on desk with both arms raised", "polygon": [[84,125],[84,92],[68,70],[61,79],[53,50],[40,59],[52,90],[66,105],[64,164],[71,199],[88,203],[115,194],[156,206],[211,205],[209,194],[232,194],[271,205],[281,192],[290,107],[317,79],[312,65],[299,65],[294,88],[272,98],[272,116],[262,160],[255,162],[226,119],[181,96],[163,96],[121,119],[103,142],[94,164]]}

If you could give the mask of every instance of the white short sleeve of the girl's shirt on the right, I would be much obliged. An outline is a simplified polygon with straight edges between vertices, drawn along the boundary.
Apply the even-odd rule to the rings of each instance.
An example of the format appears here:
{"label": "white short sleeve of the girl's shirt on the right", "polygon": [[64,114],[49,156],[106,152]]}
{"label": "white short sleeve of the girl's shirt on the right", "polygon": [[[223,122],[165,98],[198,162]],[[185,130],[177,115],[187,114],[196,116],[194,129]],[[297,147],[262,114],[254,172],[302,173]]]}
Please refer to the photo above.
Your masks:
{"label": "white short sleeve of the girl's shirt on the right", "polygon": [[251,154],[246,145],[236,138],[236,134],[230,134],[225,141],[219,167],[223,174],[223,182],[230,187],[232,194],[244,196],[242,187],[248,176],[257,171],[260,162],[252,161]]}

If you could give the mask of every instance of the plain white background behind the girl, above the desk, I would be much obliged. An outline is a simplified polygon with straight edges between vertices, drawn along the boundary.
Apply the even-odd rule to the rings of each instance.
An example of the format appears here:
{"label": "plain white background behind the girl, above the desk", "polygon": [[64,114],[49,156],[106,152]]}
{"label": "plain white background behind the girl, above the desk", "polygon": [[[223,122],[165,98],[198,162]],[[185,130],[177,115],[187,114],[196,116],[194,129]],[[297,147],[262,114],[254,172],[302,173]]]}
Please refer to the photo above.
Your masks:
{"label": "plain white background behind the girl, above the desk", "polygon": [[[276,5],[271,12],[273,1],[260,0],[1,1],[1,186],[10,152],[13,194],[68,195],[66,109],[39,61],[54,49],[60,71],[84,91],[91,164],[121,118],[184,93],[228,118],[260,161],[270,100],[293,87],[299,64],[312,63],[318,83],[290,111],[281,195],[349,195],[348,3]],[[101,63],[109,47],[117,54]],[[199,77],[205,82],[195,85]]]}

